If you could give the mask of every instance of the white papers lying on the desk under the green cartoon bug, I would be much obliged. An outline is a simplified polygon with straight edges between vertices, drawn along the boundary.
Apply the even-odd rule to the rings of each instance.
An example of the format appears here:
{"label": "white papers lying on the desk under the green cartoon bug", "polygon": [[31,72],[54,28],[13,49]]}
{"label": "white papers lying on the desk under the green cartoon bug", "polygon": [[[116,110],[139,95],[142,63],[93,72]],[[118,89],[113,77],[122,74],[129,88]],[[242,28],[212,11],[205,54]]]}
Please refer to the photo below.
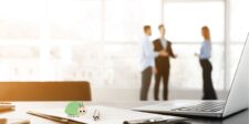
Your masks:
{"label": "white papers lying on the desk under the green cartoon bug", "polygon": [[[95,121],[93,118],[94,111],[100,112],[100,120]],[[86,114],[79,117],[70,117],[65,114],[63,108],[52,108],[52,110],[35,110],[28,112],[29,114],[37,115],[40,117],[64,122],[64,123],[87,123],[87,124],[123,124],[124,121],[131,120],[143,120],[143,118],[156,118],[160,117],[164,120],[176,118],[173,116],[165,116],[158,114],[149,114],[135,112],[123,108],[107,107],[107,106],[86,106]]]}

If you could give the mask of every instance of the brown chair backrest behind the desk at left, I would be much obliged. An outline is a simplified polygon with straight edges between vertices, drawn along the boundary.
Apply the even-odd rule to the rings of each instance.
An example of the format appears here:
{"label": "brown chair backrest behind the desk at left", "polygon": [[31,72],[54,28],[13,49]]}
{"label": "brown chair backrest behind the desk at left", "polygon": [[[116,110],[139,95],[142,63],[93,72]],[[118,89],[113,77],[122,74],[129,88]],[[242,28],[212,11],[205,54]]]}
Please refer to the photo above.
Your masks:
{"label": "brown chair backrest behind the desk at left", "polygon": [[0,82],[0,101],[91,101],[85,81]]}

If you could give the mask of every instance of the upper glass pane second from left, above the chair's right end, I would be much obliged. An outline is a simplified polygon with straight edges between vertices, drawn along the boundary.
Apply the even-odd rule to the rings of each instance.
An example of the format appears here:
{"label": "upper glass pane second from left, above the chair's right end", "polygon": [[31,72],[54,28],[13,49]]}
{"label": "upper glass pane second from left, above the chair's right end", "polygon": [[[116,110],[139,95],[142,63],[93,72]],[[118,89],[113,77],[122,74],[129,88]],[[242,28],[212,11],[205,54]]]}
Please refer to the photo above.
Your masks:
{"label": "upper glass pane second from left, above the chair's right end", "polygon": [[92,42],[101,39],[101,0],[48,0],[53,40]]}

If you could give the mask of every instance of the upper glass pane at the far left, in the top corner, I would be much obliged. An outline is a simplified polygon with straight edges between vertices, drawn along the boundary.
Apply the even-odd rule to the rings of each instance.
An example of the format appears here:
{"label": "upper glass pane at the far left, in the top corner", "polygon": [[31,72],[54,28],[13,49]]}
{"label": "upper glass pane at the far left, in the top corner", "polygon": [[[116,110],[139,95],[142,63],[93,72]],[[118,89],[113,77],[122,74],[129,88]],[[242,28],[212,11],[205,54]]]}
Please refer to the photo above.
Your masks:
{"label": "upper glass pane at the far left, in the top corner", "polygon": [[[34,40],[40,34],[43,0],[1,0],[0,39]],[[4,42],[0,40],[0,42]],[[14,41],[18,42],[18,41]]]}

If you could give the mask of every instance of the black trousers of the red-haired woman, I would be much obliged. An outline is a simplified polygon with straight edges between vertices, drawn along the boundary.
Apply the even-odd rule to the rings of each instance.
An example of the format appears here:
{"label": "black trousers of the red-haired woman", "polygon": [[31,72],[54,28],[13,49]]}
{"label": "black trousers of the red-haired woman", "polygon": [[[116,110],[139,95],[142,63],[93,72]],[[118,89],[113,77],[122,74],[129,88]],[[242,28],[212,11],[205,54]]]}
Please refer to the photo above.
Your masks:
{"label": "black trousers of the red-haired woman", "polygon": [[212,66],[209,60],[200,60],[200,65],[203,68],[203,80],[204,80],[204,96],[203,100],[217,100],[215,89],[211,81]]}

